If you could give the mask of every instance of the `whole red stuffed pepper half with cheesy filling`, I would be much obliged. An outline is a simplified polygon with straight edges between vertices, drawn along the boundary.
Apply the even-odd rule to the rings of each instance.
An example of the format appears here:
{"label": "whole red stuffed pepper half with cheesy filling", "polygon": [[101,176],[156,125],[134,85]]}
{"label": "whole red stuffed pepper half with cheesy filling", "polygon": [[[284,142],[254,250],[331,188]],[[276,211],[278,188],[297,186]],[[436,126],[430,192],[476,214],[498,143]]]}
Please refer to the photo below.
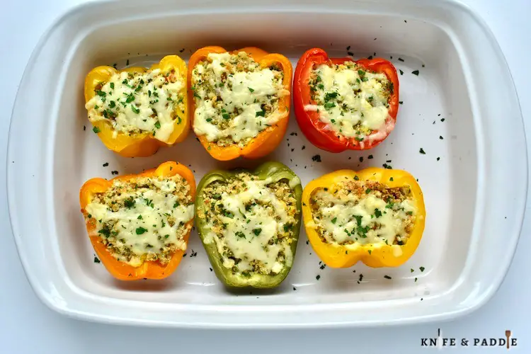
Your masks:
{"label": "whole red stuffed pepper half with cheesy filling", "polygon": [[313,48],[297,63],[293,103],[300,129],[319,149],[371,149],[394,128],[398,75],[382,58],[329,58]]}

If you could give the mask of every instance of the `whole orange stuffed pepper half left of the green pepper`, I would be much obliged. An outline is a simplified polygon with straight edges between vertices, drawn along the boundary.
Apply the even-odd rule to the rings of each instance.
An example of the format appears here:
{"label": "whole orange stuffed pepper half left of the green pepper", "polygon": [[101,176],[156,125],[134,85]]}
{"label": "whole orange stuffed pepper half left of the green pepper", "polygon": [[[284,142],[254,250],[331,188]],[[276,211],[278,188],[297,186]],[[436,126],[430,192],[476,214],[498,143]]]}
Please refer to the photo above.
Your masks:
{"label": "whole orange stuffed pepper half left of the green pepper", "polygon": [[92,178],[79,192],[94,251],[120,280],[162,279],[183,258],[193,224],[195,180],[176,162],[108,181]]}

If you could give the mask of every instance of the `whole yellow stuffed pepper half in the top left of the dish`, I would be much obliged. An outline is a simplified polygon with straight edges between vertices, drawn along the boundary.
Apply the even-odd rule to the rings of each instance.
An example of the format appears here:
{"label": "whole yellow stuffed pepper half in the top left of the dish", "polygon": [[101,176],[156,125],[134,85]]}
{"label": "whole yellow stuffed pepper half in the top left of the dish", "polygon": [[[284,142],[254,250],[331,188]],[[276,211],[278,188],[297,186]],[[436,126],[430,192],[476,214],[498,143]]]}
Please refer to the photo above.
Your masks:
{"label": "whole yellow stuffed pepper half in the top left of the dish", "polygon": [[85,108],[105,147],[126,157],[150,156],[190,130],[186,64],[169,55],[150,69],[96,67],[85,79]]}

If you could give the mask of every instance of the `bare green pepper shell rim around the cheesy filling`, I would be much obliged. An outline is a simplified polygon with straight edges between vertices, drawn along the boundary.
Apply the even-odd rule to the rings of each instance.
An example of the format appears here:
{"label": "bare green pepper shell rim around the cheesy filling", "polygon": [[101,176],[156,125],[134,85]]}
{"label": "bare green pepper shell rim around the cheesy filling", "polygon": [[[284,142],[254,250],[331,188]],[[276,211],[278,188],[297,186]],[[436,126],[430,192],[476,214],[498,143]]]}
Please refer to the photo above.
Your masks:
{"label": "bare green pepper shell rim around the cheesy filling", "polygon": [[[258,168],[254,171],[236,169],[232,171],[215,170],[207,173],[198,184],[198,196],[195,201],[195,215],[199,215],[198,213],[200,212],[205,212],[205,202],[201,193],[203,188],[215,181],[226,181],[228,178],[232,178],[241,172],[251,173],[255,176],[258,176],[258,178],[261,180],[271,177],[273,178],[273,181],[280,181],[285,178],[290,179],[290,181],[295,181],[296,185],[295,187],[292,187],[292,190],[294,190],[295,199],[297,200],[297,215],[295,217],[296,224],[293,226],[294,240],[290,245],[290,249],[292,251],[292,262],[295,261],[295,253],[297,251],[297,242],[299,241],[299,230],[302,215],[302,186],[300,184],[299,177],[287,166],[280,164],[280,162],[266,162],[265,164],[258,166]],[[290,178],[287,178],[287,176],[290,176]],[[287,277],[287,274],[290,273],[293,263],[289,266],[286,265],[280,271],[280,273],[275,275],[254,274],[250,278],[243,275],[234,275],[232,274],[232,270],[225,268],[222,264],[221,255],[217,250],[217,244],[215,241],[212,240],[210,243],[205,244],[205,236],[207,236],[207,223],[205,222],[205,219],[198,217],[197,227],[198,234],[203,246],[205,247],[205,251],[207,252],[212,269],[214,270],[217,278],[227,287],[255,287],[268,289],[278,286]]]}

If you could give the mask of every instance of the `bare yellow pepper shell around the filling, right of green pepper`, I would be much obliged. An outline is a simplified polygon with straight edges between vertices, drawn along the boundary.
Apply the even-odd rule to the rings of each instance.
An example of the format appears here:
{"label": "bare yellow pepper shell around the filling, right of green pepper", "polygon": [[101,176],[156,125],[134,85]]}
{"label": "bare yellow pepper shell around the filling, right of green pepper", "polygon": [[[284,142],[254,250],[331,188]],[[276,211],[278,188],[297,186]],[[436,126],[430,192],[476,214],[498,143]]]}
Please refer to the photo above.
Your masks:
{"label": "bare yellow pepper shell around the filling, right of green pepper", "polygon": [[[337,244],[327,244],[321,241],[318,232],[314,228],[314,220],[310,200],[313,193],[318,188],[332,188],[333,185],[342,181],[353,180],[358,176],[359,181],[375,181],[386,185],[388,188],[409,186],[411,195],[416,207],[416,218],[413,224],[413,231],[409,234],[405,245],[380,245],[380,244],[358,244],[351,248]],[[390,181],[393,178],[393,181]],[[304,228],[310,244],[317,253],[321,261],[331,268],[348,268],[358,261],[372,268],[398,267],[404,264],[416,251],[421,241],[426,222],[426,207],[424,205],[421,187],[410,173],[401,170],[369,168],[361,171],[339,170],[328,173],[314,179],[308,183],[302,193],[302,217]],[[394,254],[394,247],[399,247],[401,254]],[[370,252],[369,252],[370,251]]]}

